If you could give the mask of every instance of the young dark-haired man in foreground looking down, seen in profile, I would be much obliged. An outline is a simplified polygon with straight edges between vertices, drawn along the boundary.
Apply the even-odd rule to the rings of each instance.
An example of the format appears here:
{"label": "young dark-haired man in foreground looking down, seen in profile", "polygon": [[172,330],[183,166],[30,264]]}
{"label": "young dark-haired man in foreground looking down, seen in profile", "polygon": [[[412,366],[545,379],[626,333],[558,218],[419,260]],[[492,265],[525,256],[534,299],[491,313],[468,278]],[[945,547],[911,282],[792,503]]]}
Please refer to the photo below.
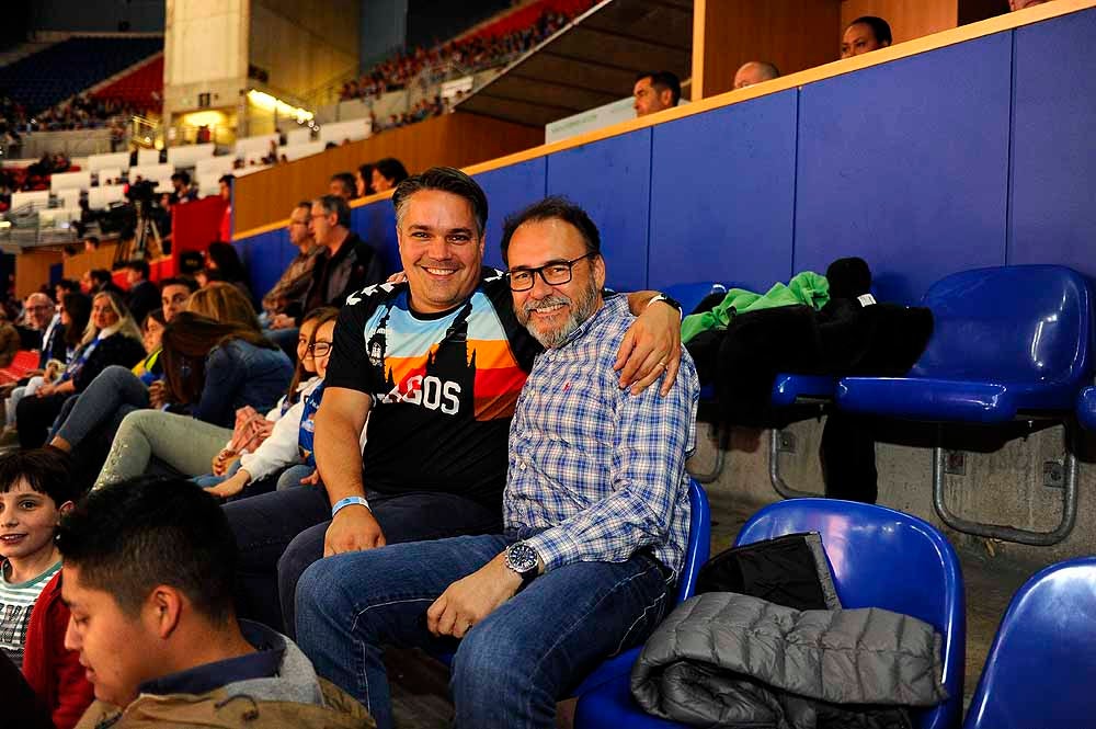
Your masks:
{"label": "young dark-haired man in foreground looking down, seen in profile", "polygon": [[284,636],[239,622],[236,545],[216,499],[182,479],[100,489],[65,520],[66,645],[98,699],[80,727],[372,727]]}

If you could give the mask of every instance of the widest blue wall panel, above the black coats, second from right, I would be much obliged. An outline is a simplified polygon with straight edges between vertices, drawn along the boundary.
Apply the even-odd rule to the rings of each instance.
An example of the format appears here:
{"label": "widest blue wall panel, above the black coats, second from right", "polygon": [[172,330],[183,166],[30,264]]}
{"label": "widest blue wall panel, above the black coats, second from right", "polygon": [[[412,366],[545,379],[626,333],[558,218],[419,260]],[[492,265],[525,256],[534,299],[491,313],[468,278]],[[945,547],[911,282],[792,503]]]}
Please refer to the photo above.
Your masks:
{"label": "widest blue wall panel, above the black coats, second from right", "polygon": [[1004,263],[1011,33],[804,87],[795,269],[860,255],[888,300]]}

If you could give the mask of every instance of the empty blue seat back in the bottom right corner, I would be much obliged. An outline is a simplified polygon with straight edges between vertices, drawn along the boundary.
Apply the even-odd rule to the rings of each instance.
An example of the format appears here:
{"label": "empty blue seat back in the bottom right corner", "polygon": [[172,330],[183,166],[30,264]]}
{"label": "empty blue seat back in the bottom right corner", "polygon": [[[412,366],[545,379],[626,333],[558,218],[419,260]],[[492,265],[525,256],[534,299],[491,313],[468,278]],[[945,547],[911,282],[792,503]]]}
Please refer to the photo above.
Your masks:
{"label": "empty blue seat back in the bottom right corner", "polygon": [[1096,725],[1096,557],[1042,570],[1013,596],[964,729]]}

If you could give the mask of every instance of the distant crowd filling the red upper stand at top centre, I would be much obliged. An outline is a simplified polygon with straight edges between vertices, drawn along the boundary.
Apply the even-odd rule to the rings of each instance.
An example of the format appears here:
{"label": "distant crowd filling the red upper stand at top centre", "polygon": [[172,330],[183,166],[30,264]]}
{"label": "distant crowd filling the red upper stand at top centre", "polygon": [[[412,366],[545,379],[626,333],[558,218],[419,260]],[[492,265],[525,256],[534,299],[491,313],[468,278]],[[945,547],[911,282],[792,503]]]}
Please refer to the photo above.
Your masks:
{"label": "distant crowd filling the red upper stand at top centre", "polygon": [[502,66],[567,25],[573,15],[547,10],[536,23],[502,36],[472,35],[433,48],[418,46],[381,61],[357,79],[343,84],[340,94],[350,99],[376,99],[389,91],[406,88],[423,77],[426,86],[442,81],[450,68],[473,73]]}

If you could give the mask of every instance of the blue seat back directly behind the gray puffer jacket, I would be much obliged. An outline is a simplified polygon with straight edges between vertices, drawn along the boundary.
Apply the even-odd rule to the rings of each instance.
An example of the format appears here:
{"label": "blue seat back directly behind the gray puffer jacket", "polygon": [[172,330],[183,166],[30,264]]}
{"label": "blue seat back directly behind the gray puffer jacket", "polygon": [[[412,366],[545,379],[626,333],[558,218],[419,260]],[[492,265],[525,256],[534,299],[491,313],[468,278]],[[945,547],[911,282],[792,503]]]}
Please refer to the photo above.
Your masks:
{"label": "blue seat back directly behind the gray puffer jacket", "polygon": [[925,521],[884,506],[792,499],[765,506],[735,545],[818,532],[845,607],[883,607],[933,625],[944,638],[950,698],[918,713],[920,729],[950,729],[962,713],[967,623],[962,572],[948,540]]}

